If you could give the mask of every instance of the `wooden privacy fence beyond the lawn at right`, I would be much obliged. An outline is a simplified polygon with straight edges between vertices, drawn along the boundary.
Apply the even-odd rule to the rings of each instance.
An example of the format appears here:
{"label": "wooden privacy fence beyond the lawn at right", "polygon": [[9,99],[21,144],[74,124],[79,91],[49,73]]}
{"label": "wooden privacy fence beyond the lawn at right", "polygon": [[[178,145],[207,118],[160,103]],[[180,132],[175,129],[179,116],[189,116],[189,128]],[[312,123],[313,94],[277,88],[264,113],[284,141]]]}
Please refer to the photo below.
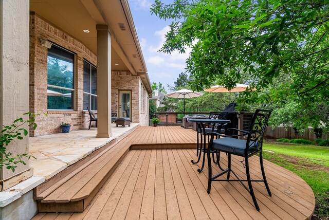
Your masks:
{"label": "wooden privacy fence beyond the lawn at right", "polygon": [[[265,138],[270,138],[270,139],[280,139],[280,138],[288,138],[288,139],[306,139],[306,140],[316,140],[317,137],[313,131],[313,129],[309,128],[307,129],[304,133],[298,133],[297,135],[295,134],[295,130],[292,127],[276,127],[273,129],[272,126],[268,126],[265,129]],[[322,134],[321,139],[328,139],[327,134]]]}

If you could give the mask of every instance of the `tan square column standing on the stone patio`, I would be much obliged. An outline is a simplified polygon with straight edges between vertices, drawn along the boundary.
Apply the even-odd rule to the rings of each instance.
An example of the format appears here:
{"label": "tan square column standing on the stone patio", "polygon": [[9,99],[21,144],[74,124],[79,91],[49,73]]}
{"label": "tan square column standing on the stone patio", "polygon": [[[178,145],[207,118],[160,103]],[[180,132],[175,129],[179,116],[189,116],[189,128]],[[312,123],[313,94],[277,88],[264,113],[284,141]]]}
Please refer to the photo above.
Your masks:
{"label": "tan square column standing on the stone patio", "polygon": [[97,137],[111,137],[111,34],[107,25],[97,29]]}

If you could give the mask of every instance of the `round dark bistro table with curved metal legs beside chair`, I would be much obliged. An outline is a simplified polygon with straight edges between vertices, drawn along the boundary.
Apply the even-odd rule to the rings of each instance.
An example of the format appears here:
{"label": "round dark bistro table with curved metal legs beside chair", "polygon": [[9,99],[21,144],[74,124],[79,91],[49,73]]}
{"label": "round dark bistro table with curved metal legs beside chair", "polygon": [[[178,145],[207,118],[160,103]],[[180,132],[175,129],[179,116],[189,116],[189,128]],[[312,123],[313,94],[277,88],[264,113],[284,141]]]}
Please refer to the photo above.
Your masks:
{"label": "round dark bistro table with curved metal legs beside chair", "polygon": [[[212,130],[211,132],[217,132],[217,133],[220,133],[220,130],[221,130],[221,127],[220,125],[226,125],[227,123],[230,123],[231,121],[230,120],[224,120],[224,119],[190,119],[189,120],[190,122],[196,122],[197,124],[197,133],[196,133],[196,144],[197,144],[197,149],[199,148],[200,146],[200,153],[197,155],[198,156],[198,159],[197,161],[194,161],[194,160],[191,160],[191,162],[193,164],[196,164],[200,161],[200,158],[201,158],[201,154],[202,152],[204,153],[204,156],[203,156],[203,160],[202,160],[202,166],[201,168],[197,169],[197,172],[201,172],[204,167],[205,167],[205,158],[206,158],[206,154],[207,154],[207,150],[208,150],[208,147],[206,147],[206,136],[209,132],[206,132],[206,128],[205,128],[205,124],[212,124],[212,123],[216,123],[217,124],[217,129],[215,129],[215,126],[212,126]],[[199,132],[200,131],[200,142],[199,142]],[[217,155],[217,154],[216,154]],[[214,158],[213,158],[214,160]],[[219,163],[219,159],[218,159],[218,155],[217,155],[217,163]],[[220,166],[220,164],[218,164],[218,166]],[[221,168],[221,167],[220,167]]]}

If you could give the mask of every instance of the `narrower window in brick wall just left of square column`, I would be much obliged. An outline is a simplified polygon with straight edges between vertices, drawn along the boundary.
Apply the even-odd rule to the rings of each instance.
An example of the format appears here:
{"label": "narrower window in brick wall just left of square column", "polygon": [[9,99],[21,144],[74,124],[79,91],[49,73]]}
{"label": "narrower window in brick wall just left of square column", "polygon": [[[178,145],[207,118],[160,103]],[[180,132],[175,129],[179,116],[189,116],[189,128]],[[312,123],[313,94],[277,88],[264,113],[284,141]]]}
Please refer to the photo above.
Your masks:
{"label": "narrower window in brick wall just left of square column", "polygon": [[83,109],[97,110],[97,68],[83,61]]}

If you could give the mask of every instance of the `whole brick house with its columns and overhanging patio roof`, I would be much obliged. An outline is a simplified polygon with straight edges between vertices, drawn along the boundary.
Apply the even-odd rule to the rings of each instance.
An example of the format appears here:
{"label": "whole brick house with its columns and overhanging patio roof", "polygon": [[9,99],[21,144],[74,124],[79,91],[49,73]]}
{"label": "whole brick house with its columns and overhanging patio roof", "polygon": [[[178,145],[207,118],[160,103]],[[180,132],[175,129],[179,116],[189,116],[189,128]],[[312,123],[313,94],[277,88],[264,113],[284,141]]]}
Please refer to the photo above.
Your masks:
{"label": "whole brick house with its columns and overhanging patio roof", "polygon": [[[30,136],[59,133],[64,117],[82,130],[87,107],[98,113],[97,137],[112,136],[112,113],[148,125],[151,83],[127,0],[2,1],[0,14],[1,126],[43,112]],[[26,146],[29,137],[11,152]],[[0,183],[31,176],[23,159],[15,172],[0,169]]]}

